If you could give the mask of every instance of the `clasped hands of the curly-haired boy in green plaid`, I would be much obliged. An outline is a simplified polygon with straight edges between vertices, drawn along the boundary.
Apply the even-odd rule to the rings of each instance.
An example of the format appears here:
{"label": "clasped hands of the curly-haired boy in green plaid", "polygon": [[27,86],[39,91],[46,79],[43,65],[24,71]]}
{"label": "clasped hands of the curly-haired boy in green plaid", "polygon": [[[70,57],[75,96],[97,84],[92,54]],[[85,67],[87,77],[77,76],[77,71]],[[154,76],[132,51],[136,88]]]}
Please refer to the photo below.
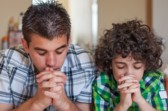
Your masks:
{"label": "clasped hands of the curly-haired boy in green plaid", "polygon": [[126,110],[132,102],[138,103],[142,99],[139,80],[135,75],[122,75],[118,80],[118,89],[120,91],[119,104]]}

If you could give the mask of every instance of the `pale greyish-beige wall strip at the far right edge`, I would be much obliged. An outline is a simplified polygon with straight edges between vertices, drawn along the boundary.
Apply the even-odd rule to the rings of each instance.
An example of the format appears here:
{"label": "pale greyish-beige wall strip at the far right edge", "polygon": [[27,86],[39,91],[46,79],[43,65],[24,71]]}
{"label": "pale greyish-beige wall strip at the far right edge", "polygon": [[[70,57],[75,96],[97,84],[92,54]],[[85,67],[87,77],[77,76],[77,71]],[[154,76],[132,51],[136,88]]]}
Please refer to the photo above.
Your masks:
{"label": "pale greyish-beige wall strip at the far right edge", "polygon": [[153,0],[153,29],[163,38],[165,49],[162,55],[163,63],[168,64],[168,0]]}

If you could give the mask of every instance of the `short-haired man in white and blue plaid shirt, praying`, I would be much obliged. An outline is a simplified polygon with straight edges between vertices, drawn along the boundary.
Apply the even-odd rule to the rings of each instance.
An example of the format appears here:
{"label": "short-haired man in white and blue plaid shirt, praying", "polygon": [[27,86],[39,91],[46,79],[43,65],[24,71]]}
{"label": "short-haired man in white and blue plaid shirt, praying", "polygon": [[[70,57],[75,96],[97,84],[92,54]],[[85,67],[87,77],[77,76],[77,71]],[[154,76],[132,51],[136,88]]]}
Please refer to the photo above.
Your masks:
{"label": "short-haired man in white and blue plaid shirt, praying", "polygon": [[96,68],[70,44],[67,11],[54,0],[31,5],[22,46],[0,52],[0,111],[91,111]]}

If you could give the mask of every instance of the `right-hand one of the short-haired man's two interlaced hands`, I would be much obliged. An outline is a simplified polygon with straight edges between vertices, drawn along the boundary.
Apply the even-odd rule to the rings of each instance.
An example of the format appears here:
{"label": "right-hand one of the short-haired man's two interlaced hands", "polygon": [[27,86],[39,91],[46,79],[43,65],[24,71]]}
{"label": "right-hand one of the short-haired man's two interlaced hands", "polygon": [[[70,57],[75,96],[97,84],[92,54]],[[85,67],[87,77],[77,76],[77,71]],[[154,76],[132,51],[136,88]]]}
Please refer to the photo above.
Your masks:
{"label": "right-hand one of the short-haired man's two interlaced hands", "polygon": [[64,84],[66,83],[65,74],[54,71],[53,69],[48,70],[50,74],[39,75],[39,82],[46,81],[42,87],[48,89],[45,90],[45,95],[52,98],[52,103],[57,109],[66,108],[69,99],[67,98],[64,91]]}

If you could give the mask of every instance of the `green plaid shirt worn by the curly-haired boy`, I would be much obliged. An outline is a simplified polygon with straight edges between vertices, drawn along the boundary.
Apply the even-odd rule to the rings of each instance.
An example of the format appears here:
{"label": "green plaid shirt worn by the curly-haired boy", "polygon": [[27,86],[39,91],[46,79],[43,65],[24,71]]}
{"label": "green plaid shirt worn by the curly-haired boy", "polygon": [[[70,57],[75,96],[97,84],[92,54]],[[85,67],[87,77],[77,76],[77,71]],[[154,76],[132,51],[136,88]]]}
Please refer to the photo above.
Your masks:
{"label": "green plaid shirt worn by the curly-haired boy", "polygon": [[[161,98],[159,92],[165,91],[163,74],[159,71],[147,72],[140,81],[142,96],[157,110],[168,111],[168,99]],[[120,102],[120,93],[113,76],[101,72],[93,83],[93,100],[95,111],[113,111]],[[128,111],[139,111],[133,103]]]}

